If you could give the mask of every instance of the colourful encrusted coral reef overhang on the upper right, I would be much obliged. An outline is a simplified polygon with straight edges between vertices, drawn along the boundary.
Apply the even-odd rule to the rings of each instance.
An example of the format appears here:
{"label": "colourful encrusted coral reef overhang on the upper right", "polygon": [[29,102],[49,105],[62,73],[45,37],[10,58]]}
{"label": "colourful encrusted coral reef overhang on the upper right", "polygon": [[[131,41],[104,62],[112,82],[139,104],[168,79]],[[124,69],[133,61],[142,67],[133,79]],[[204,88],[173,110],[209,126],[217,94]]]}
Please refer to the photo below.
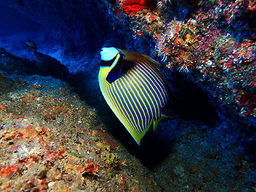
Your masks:
{"label": "colourful encrusted coral reef overhang on the upper right", "polygon": [[[118,17],[125,20],[125,14]],[[154,38],[152,56],[169,70],[190,72],[212,97],[236,106],[238,115],[256,117],[255,1],[159,1],[129,16],[134,36]]]}

